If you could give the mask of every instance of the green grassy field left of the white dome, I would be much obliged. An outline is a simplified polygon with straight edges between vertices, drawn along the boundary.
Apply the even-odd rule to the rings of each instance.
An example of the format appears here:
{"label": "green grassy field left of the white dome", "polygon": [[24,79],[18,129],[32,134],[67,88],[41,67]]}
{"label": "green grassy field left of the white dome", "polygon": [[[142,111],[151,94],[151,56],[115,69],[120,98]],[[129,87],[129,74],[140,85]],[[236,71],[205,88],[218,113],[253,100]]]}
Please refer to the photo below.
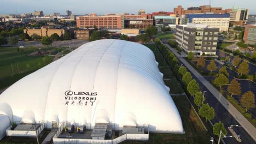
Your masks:
{"label": "green grassy field left of the white dome", "polygon": [[[22,77],[53,62],[54,56],[28,56],[40,48],[24,48],[18,52],[16,47],[0,47],[0,89],[12,85]],[[53,53],[57,48],[42,48]]]}

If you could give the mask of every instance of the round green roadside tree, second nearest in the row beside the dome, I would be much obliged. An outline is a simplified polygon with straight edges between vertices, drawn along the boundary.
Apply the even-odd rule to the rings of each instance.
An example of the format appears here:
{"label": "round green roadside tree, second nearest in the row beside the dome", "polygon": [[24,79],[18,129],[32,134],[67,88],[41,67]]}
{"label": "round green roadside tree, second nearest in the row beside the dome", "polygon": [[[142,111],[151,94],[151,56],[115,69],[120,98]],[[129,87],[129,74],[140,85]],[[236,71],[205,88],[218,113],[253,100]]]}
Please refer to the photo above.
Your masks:
{"label": "round green roadside tree, second nearest in the row beside the dome", "polygon": [[211,121],[215,117],[213,107],[210,107],[208,104],[203,104],[199,109],[199,115],[206,119],[205,122]]}

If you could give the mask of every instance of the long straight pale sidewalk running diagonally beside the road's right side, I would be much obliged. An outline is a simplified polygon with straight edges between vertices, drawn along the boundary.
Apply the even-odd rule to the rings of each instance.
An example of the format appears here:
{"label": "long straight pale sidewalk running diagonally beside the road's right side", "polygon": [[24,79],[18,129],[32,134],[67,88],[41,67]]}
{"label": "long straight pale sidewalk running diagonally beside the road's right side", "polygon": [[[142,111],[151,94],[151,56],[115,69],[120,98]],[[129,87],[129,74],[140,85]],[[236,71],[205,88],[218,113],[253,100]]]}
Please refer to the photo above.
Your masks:
{"label": "long straight pale sidewalk running diagonally beside the road's right side", "polygon": [[[210,82],[208,82],[201,74],[199,74],[181,55],[179,55],[175,49],[171,48],[168,44],[165,44],[170,51],[181,61],[185,67],[187,67],[191,73],[193,73],[197,79],[202,82],[205,87],[219,100],[219,103],[225,107],[226,110],[236,119],[238,123],[247,131],[247,133],[256,141],[256,128],[238,111],[236,108],[229,103],[226,98],[214,88]],[[227,105],[228,104],[228,105]]]}

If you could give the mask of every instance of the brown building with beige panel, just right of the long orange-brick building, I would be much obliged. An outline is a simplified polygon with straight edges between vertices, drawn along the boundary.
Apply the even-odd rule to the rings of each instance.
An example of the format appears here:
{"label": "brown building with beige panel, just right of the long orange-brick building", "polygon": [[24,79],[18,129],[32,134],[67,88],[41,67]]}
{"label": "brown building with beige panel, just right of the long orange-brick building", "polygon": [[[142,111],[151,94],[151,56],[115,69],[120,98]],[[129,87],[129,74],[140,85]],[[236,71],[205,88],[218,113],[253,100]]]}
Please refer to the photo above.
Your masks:
{"label": "brown building with beige panel, just right of the long orange-brick building", "polygon": [[146,29],[153,26],[153,19],[125,19],[125,28]]}

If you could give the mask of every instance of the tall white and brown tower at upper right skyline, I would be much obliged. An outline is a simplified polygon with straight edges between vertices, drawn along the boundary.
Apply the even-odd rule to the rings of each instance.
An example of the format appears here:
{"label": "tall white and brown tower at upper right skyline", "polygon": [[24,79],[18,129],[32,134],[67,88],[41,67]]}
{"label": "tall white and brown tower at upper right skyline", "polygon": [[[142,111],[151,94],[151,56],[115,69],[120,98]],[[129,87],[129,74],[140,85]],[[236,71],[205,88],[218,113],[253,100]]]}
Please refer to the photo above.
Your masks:
{"label": "tall white and brown tower at upper right skyline", "polygon": [[248,9],[240,9],[234,7],[232,11],[230,11],[230,23],[233,26],[245,26],[248,17]]}

